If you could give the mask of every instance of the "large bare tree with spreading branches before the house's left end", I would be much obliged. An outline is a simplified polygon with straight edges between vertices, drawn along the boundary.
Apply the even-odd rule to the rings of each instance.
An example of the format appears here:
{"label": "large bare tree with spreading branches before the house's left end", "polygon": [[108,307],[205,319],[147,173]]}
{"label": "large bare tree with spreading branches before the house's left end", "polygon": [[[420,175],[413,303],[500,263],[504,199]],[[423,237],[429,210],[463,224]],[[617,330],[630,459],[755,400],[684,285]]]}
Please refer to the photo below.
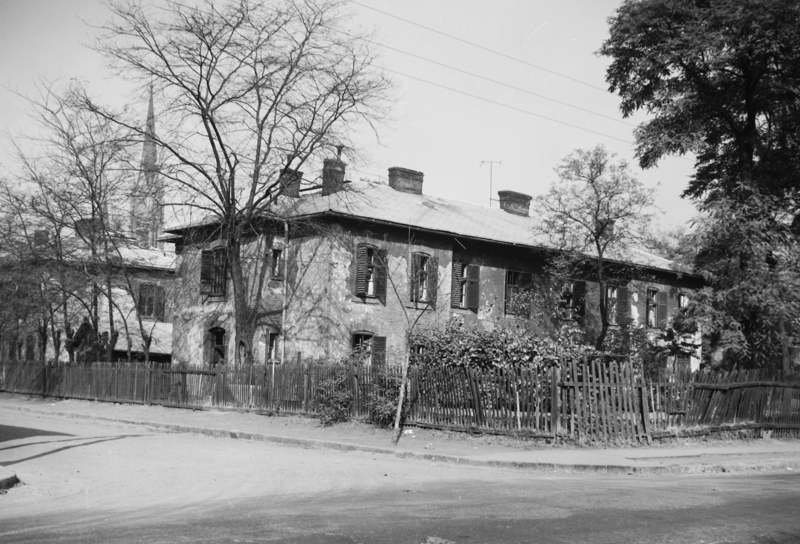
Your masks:
{"label": "large bare tree with spreading branches before the house's left end", "polygon": [[[282,173],[337,145],[352,149],[354,126],[373,127],[386,113],[390,82],[370,66],[368,42],[338,30],[343,3],[206,0],[150,10],[111,2],[114,19],[95,46],[166,101],[172,130],[154,138],[161,173],[193,219],[217,227],[193,241],[226,243],[237,360],[250,362],[253,348],[243,237],[265,219],[283,220]],[[143,133],[124,114],[87,104]]]}

